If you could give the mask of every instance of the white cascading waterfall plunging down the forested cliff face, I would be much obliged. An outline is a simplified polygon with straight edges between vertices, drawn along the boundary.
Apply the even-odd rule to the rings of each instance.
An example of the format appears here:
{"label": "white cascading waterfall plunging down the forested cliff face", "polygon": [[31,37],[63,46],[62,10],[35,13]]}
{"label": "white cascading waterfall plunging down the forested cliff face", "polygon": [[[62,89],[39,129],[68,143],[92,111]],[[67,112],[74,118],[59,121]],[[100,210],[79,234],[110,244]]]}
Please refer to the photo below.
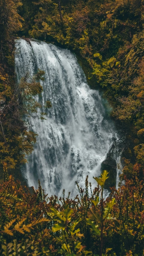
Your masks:
{"label": "white cascading waterfall plunging down the forested cliff face", "polygon": [[[103,100],[91,90],[76,57],[52,44],[16,40],[15,68],[17,81],[29,71],[45,71],[42,97],[50,100],[44,122],[32,122],[38,134],[34,151],[23,170],[29,186],[38,187],[38,179],[49,194],[61,194],[63,188],[75,194],[75,181],[84,186],[86,175],[101,172],[101,163],[107,156],[115,137],[113,123],[107,119]],[[42,110],[45,112],[45,109]]]}

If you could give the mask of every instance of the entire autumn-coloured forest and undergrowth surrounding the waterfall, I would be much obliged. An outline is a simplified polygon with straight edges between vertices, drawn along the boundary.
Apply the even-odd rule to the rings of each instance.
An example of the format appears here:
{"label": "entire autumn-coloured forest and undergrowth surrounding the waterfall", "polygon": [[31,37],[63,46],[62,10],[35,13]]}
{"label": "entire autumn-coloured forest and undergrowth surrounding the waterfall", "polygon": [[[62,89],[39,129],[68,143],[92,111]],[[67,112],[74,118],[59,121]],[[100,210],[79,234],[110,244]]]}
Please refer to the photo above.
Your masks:
{"label": "entire autumn-coloured forest and undergrowth surrounding the waterfall", "polygon": [[[21,166],[38,134],[23,116],[45,120],[35,95],[45,71],[16,84],[14,40],[71,50],[88,85],[111,106],[127,146],[119,188],[104,198],[109,173],[58,198],[29,189]],[[0,255],[144,255],[144,1],[0,0]],[[51,108],[47,100],[45,109]]]}

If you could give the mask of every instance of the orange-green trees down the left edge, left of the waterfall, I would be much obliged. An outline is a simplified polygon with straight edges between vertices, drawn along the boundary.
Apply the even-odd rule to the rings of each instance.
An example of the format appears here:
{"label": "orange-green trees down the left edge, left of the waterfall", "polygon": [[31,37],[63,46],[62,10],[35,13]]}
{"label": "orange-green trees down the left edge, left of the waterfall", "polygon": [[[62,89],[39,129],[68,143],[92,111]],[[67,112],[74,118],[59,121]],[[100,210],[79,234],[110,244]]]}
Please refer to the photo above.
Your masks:
{"label": "orange-green trees down the left edge, left of the waterfall", "polygon": [[[20,166],[26,162],[25,155],[33,150],[36,136],[28,130],[28,123],[22,116],[44,119],[46,113],[39,113],[41,108],[33,96],[40,95],[43,88],[40,80],[44,80],[44,71],[30,77],[29,73],[19,84],[14,74],[14,41],[13,33],[22,29],[23,18],[17,10],[22,5],[18,1],[0,2],[0,180],[3,179],[2,163],[8,164],[9,173],[22,179]],[[45,107],[51,107],[49,101]]]}

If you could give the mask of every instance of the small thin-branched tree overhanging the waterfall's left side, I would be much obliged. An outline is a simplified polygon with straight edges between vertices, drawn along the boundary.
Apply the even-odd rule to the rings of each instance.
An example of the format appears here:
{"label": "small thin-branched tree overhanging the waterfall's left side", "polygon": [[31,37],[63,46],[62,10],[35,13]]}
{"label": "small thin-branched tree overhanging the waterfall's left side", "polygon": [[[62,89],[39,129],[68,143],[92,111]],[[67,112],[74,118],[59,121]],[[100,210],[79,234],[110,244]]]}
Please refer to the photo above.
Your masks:
{"label": "small thin-branched tree overhanging the waterfall's left side", "polygon": [[[20,164],[26,162],[25,154],[32,152],[33,143],[36,142],[37,134],[28,131],[22,116],[40,118],[42,121],[45,119],[46,113],[38,111],[42,105],[34,98],[43,92],[39,80],[44,80],[44,74],[41,70],[33,76],[27,73],[14,89],[0,92],[0,97],[5,102],[0,112],[0,164],[7,162],[9,171],[16,170],[17,166],[19,168]],[[7,79],[5,78],[6,81]],[[46,101],[44,108],[51,106],[50,101]]]}

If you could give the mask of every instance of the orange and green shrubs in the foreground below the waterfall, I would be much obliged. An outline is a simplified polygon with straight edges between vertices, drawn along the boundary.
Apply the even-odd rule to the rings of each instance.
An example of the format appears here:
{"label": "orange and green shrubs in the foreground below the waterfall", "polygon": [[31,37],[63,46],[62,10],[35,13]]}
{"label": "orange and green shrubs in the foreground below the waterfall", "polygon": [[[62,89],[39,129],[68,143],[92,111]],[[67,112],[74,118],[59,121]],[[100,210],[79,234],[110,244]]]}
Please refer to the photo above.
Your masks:
{"label": "orange and green shrubs in the foreground below the waterfall", "polygon": [[[0,188],[0,254],[11,255],[144,255],[144,185],[139,164],[121,189],[103,199],[107,171],[88,177],[85,190],[70,199],[46,197],[39,182],[31,191],[7,174]],[[103,254],[102,254],[103,253]]]}

